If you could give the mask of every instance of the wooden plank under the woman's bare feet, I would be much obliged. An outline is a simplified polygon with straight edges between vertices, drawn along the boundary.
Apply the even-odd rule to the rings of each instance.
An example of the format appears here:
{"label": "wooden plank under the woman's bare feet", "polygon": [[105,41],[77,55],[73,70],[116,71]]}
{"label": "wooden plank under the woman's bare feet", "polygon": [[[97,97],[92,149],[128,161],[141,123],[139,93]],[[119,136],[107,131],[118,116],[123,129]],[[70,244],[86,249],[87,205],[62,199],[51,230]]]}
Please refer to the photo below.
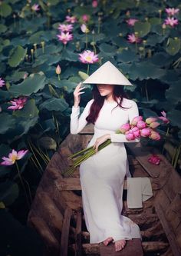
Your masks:
{"label": "wooden plank under the woman's bare feet", "polygon": [[105,246],[100,244],[100,256],[143,256],[143,249],[140,239],[132,239],[127,241],[127,244],[121,251],[115,251],[113,243]]}

